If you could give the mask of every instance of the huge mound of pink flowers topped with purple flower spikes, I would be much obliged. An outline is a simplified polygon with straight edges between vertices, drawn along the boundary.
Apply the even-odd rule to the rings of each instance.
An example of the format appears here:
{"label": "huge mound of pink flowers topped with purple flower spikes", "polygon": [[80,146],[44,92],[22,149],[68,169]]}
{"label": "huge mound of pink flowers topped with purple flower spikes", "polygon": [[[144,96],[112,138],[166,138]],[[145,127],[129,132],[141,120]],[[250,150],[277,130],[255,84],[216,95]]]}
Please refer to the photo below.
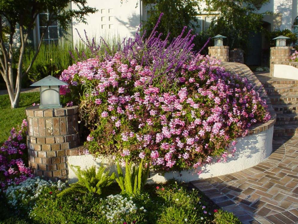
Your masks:
{"label": "huge mound of pink flowers topped with purple flower spikes", "polygon": [[89,58],[64,70],[60,79],[82,89],[80,118],[89,129],[90,153],[127,157],[151,167],[198,169],[225,162],[235,139],[270,119],[265,100],[250,84],[194,53],[188,32],[171,43],[155,29],[136,34],[118,52]]}

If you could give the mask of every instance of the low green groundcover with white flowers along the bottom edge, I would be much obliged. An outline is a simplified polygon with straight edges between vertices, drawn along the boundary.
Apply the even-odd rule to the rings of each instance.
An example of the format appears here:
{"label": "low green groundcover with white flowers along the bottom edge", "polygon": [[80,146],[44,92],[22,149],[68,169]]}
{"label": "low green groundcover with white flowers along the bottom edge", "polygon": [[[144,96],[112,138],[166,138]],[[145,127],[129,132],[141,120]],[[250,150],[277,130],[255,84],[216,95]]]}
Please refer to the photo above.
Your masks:
{"label": "low green groundcover with white flowers along the bottom edge", "polygon": [[[132,196],[119,195],[120,190],[112,192],[111,187],[106,187],[109,191],[106,198],[90,192],[57,197],[60,192],[57,187],[46,187],[35,205],[27,208],[30,211],[27,216],[20,218],[8,206],[1,206],[0,220],[7,224],[11,220],[17,224],[240,224],[232,213],[221,209],[213,212],[217,207],[203,200],[198,190],[188,190],[185,184],[169,181],[159,186],[146,185],[143,193]],[[19,206],[23,205],[17,204],[16,209]]]}

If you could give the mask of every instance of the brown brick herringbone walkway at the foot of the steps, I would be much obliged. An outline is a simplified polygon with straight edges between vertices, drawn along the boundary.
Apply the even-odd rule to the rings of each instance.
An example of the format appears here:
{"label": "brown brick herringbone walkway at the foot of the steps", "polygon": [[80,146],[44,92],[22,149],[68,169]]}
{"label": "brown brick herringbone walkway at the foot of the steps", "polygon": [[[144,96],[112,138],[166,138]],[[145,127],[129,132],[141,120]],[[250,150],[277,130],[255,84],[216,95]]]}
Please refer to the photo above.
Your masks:
{"label": "brown brick herringbone walkway at the foot of the steps", "polygon": [[298,136],[276,138],[275,151],[240,172],[192,184],[244,223],[298,223]]}

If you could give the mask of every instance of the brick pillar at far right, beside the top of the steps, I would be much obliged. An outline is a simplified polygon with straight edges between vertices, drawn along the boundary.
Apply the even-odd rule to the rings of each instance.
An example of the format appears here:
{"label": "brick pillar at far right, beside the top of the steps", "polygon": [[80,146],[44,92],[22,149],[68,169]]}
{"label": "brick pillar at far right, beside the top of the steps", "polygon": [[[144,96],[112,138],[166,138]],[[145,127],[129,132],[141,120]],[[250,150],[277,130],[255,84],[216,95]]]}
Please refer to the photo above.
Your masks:
{"label": "brick pillar at far right, beside the top of the steps", "polygon": [[274,64],[290,61],[292,47],[271,47],[270,48],[270,76],[273,76]]}

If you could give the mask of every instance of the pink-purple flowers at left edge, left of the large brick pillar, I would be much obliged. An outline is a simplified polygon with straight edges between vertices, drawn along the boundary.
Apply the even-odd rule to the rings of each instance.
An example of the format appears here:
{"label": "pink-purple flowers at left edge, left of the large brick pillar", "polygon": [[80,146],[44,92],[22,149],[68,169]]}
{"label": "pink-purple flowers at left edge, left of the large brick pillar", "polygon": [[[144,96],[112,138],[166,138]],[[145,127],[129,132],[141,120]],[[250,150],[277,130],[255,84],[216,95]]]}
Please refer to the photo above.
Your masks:
{"label": "pink-purple flowers at left edge, left of the large brick pillar", "polygon": [[9,138],[0,147],[0,187],[19,184],[33,177],[32,170],[25,165],[27,152],[26,142],[27,121],[23,120],[21,127],[10,131]]}

